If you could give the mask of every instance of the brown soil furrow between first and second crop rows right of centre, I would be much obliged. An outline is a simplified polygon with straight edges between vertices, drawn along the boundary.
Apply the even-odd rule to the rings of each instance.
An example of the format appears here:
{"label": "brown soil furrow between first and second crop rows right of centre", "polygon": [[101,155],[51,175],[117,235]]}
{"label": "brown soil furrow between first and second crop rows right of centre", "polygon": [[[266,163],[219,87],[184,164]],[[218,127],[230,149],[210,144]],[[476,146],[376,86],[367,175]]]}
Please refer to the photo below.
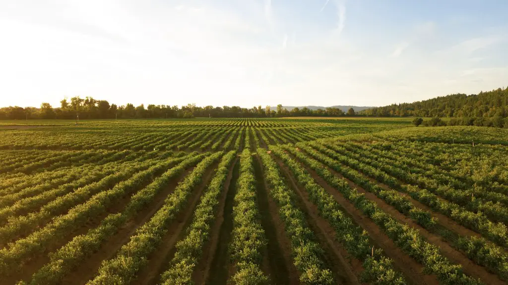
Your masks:
{"label": "brown soil furrow between first and second crop rows right of centre", "polygon": [[310,202],[308,193],[300,188],[288,167],[279,159],[275,157],[274,159],[282,170],[281,174],[285,177],[288,185],[297,194],[298,206],[305,213],[307,224],[314,232],[316,240],[323,247],[322,260],[333,272],[335,280],[339,284],[360,284],[358,276],[363,270],[361,262],[348,258],[347,252],[336,241],[335,230],[330,223],[319,216],[319,209]]}

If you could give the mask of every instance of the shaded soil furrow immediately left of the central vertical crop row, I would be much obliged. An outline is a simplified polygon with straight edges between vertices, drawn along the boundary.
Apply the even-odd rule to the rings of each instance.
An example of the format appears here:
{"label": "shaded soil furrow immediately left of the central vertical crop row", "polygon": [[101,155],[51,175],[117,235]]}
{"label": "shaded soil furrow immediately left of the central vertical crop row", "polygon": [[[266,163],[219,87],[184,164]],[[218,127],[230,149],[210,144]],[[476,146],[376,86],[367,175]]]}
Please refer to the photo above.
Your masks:
{"label": "shaded soil furrow immediately left of the central vertical crop row", "polygon": [[239,176],[240,163],[237,161],[233,167],[233,176],[229,184],[228,194],[224,203],[224,220],[220,225],[217,248],[209,265],[205,284],[225,285],[229,278],[230,264],[228,245],[233,231],[233,205],[236,194],[236,182]]}

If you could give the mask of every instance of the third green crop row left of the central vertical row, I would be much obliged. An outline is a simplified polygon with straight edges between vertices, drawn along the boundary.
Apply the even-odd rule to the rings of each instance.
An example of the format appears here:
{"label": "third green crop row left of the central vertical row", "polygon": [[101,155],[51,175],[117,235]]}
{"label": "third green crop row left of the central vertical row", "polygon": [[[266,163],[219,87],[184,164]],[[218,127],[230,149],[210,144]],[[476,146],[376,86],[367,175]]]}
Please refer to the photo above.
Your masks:
{"label": "third green crop row left of the central vertical row", "polygon": [[185,160],[164,172],[148,186],[133,195],[123,211],[109,214],[97,228],[90,229],[86,234],[74,237],[59,250],[50,253],[50,262],[34,273],[29,284],[60,283],[62,278],[77,268],[83,260],[99,251],[103,243],[117,233],[119,228],[145,209],[155,199],[155,196],[168,186],[171,180],[208,155],[210,154],[198,155],[197,152],[189,154],[185,157]]}

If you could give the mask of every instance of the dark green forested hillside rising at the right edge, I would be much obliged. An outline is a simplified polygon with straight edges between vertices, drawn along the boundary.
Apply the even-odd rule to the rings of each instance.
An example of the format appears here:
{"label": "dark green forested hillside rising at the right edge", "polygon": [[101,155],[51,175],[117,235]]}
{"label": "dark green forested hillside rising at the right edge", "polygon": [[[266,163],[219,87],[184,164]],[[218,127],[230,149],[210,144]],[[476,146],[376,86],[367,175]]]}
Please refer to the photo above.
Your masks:
{"label": "dark green forested hillside rising at the right edge", "polygon": [[359,112],[378,117],[508,117],[508,88],[477,95],[452,94],[413,103],[392,104]]}

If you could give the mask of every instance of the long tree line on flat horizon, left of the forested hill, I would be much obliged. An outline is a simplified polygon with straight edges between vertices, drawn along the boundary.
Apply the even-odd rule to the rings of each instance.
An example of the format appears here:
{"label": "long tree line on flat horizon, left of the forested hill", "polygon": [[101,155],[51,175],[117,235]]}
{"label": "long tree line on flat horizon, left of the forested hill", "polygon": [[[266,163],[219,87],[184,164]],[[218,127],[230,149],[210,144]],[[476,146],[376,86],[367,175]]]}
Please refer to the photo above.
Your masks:
{"label": "long tree line on flat horizon, left of the forested hill", "polygon": [[204,106],[187,104],[178,108],[177,105],[154,105],[144,104],[134,106],[131,103],[125,105],[110,104],[107,100],[96,100],[92,97],[80,98],[79,96],[60,101],[60,106],[53,108],[49,103],[42,103],[40,108],[9,106],[0,108],[0,120],[24,120],[24,119],[149,119],[149,118],[267,118],[267,117],[340,117],[355,116],[356,112],[350,108],[343,112],[338,108],[326,108],[310,110],[308,108],[294,108],[289,111],[277,105],[276,110],[270,106],[263,108],[261,105],[252,108],[239,106]]}

